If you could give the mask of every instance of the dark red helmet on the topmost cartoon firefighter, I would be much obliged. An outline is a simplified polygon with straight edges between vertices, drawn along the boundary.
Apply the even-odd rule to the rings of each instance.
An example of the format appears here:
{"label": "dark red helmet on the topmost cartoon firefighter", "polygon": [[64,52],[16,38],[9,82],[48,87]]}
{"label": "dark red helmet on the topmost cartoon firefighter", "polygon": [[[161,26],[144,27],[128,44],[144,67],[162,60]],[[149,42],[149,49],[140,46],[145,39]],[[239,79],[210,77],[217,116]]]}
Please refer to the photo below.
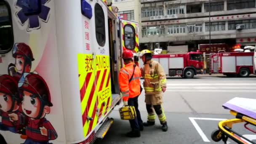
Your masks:
{"label": "dark red helmet on the topmost cartoon firefighter", "polygon": [[31,48],[25,43],[16,43],[13,48],[13,57],[16,58],[17,55],[25,56],[30,61],[34,61],[33,53]]}

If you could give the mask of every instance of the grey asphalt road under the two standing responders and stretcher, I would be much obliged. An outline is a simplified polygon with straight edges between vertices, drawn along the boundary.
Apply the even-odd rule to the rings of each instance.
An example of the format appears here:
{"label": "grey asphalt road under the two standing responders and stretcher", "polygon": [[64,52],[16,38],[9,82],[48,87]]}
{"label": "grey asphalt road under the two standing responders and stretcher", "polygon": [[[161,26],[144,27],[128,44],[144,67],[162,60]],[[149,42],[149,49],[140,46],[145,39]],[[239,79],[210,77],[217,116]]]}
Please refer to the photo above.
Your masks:
{"label": "grey asphalt road under the two standing responders and stretcher", "polygon": [[[163,96],[169,127],[167,132],[161,131],[157,120],[156,125],[144,128],[141,137],[125,137],[125,133],[131,129],[128,121],[120,120],[117,109],[121,106],[118,106],[110,115],[115,120],[112,127],[104,139],[96,141],[96,144],[223,144],[222,141],[213,142],[211,133],[218,128],[220,120],[235,117],[222,104],[234,97],[256,97],[256,77],[174,77],[168,79],[167,83],[168,88]],[[142,119],[146,121],[144,93],[139,97],[139,109]],[[256,141],[256,134],[245,130],[243,125],[235,125],[233,129]],[[228,144],[236,143],[229,139]]]}

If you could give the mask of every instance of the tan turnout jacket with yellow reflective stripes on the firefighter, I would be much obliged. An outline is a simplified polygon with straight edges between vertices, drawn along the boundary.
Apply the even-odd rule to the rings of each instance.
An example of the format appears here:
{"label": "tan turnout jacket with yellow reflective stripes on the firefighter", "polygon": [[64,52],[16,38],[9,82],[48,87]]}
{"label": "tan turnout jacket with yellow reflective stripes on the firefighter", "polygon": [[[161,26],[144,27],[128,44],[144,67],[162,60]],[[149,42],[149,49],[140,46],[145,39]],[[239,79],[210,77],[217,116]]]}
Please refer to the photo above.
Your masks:
{"label": "tan turnout jacket with yellow reflective stripes on the firefighter", "polygon": [[166,87],[166,76],[163,67],[157,61],[147,61],[144,64],[142,77],[144,77],[144,90],[146,94],[159,94]]}

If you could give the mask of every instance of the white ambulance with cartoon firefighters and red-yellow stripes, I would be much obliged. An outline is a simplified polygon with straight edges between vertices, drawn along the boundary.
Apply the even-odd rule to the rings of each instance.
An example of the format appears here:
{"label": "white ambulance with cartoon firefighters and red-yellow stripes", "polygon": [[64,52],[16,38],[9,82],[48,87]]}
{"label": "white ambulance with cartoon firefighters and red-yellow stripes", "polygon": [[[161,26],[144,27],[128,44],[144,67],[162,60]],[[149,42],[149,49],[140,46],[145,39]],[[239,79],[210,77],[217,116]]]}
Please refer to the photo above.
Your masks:
{"label": "white ambulance with cartoon firefighters and red-yellow stripes", "polygon": [[124,49],[139,27],[111,0],[0,0],[0,143],[102,139],[122,96]]}

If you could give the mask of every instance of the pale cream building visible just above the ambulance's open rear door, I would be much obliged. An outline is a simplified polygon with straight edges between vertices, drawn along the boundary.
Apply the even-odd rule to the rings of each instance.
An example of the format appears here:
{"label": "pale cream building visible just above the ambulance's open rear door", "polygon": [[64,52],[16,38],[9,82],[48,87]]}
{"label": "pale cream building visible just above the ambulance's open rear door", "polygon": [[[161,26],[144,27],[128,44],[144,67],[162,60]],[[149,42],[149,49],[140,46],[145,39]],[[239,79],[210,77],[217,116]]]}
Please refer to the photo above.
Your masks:
{"label": "pale cream building visible just above the ambulance's open rear door", "polygon": [[119,9],[117,14],[121,19],[140,22],[139,13],[141,13],[141,9],[139,0],[112,0],[112,4]]}

